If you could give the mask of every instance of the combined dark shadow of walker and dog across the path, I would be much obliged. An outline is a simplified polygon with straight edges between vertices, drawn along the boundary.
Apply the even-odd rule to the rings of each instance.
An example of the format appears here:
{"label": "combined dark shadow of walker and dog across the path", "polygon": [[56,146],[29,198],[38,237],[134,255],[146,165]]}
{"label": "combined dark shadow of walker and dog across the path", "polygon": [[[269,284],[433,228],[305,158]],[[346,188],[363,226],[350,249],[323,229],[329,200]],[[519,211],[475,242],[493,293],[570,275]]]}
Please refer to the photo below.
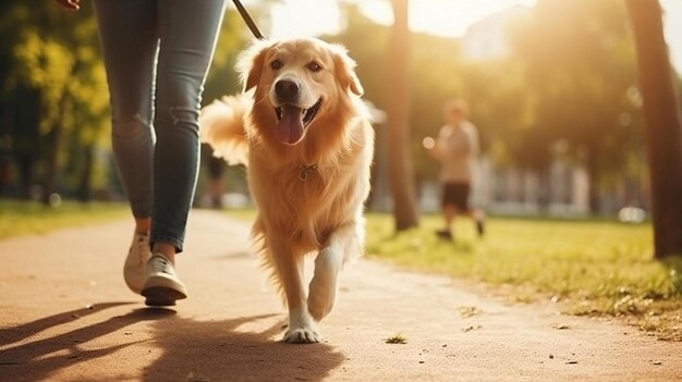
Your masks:
{"label": "combined dark shadow of walker and dog across the path", "polygon": [[[0,381],[47,381],[66,368],[77,368],[86,380],[317,381],[345,359],[327,344],[272,340],[282,335],[281,315],[197,321],[172,309],[105,311],[125,304],[99,304],[0,330]],[[94,312],[102,312],[102,321],[81,321]],[[142,321],[153,322],[131,326]],[[139,330],[145,338],[136,341]]]}

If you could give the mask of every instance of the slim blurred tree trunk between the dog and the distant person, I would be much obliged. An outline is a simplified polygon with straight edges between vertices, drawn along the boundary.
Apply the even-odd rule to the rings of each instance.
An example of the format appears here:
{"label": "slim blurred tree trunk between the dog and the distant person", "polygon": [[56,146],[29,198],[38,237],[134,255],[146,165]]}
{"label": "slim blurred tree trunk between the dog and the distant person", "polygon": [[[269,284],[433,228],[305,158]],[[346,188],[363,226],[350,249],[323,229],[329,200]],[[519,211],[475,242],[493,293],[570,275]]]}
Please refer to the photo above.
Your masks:
{"label": "slim blurred tree trunk between the dog and the distant person", "polygon": [[394,22],[388,61],[389,176],[397,231],[418,224],[412,155],[407,146],[410,123],[407,4],[407,0],[391,1]]}

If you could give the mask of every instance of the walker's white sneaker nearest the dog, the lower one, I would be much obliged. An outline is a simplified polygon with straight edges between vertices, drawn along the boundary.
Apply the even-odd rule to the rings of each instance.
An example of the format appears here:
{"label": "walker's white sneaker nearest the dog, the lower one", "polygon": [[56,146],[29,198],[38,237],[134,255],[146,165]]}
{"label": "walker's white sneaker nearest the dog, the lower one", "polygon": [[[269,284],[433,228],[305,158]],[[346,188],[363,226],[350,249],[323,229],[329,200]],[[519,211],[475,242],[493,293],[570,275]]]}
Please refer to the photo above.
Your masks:
{"label": "walker's white sneaker nearest the dog, the lower one", "polygon": [[173,263],[161,254],[154,254],[147,261],[142,295],[146,305],[175,305],[175,300],[187,297],[185,285],[175,275]]}

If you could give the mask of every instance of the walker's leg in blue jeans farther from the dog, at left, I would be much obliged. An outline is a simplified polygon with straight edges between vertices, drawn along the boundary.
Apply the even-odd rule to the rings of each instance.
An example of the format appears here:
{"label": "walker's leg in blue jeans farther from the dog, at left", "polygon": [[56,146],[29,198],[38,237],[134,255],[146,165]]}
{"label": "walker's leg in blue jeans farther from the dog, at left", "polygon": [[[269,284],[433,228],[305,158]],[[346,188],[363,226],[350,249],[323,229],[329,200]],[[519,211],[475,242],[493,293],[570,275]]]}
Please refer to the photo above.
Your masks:
{"label": "walker's leg in blue jeans farther from the dog, at left", "polygon": [[155,1],[94,0],[111,104],[111,143],[136,232],[153,210],[151,101],[158,47]]}

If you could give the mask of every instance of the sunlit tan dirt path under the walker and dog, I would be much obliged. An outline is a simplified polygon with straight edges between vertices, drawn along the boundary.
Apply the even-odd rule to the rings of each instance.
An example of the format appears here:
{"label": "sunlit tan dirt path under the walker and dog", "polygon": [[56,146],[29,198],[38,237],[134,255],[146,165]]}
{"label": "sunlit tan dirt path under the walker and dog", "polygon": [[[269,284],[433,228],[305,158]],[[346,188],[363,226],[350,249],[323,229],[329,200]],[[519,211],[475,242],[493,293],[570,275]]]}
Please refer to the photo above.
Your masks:
{"label": "sunlit tan dirt path under the walker and dog", "polygon": [[[343,273],[327,343],[280,343],[247,232],[193,211],[178,268],[191,296],[173,310],[125,288],[125,221],[0,242],[0,381],[682,380],[680,343],[368,260]],[[406,344],[385,343],[399,332]]]}

